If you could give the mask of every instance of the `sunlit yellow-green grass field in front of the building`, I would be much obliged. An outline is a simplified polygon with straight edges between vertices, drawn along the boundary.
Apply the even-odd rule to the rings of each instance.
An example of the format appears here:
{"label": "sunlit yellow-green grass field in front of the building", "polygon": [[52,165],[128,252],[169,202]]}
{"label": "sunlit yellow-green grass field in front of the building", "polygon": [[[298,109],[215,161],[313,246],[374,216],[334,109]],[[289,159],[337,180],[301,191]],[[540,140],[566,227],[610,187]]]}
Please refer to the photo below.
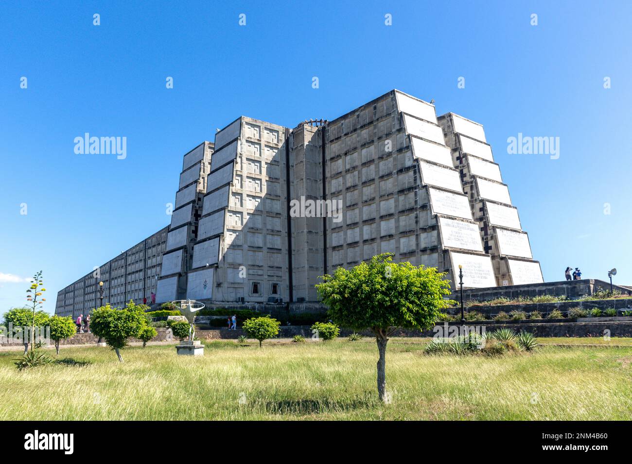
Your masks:
{"label": "sunlit yellow-green grass field in front of the building", "polygon": [[[545,339],[543,339],[544,341]],[[560,339],[592,342],[587,339]],[[625,340],[621,342],[621,340]],[[632,346],[558,348],[487,358],[422,353],[425,340],[387,350],[391,402],[377,401],[374,340],[207,343],[204,357],[169,345],[62,347],[19,372],[0,353],[0,420],[500,419],[629,420]],[[629,345],[629,339],[612,339]],[[54,350],[49,350],[54,356]]]}

